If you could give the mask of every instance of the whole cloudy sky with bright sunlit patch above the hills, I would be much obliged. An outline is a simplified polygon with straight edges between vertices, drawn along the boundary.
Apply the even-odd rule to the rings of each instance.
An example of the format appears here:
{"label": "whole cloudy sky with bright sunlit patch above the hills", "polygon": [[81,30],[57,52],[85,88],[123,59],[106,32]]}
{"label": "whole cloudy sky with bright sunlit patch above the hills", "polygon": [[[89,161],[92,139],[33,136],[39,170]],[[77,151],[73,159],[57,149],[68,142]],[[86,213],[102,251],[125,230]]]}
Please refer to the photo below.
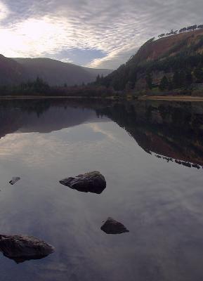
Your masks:
{"label": "whole cloudy sky with bright sunlit patch above the hills", "polygon": [[0,53],[116,69],[152,37],[203,24],[202,0],[0,0]]}

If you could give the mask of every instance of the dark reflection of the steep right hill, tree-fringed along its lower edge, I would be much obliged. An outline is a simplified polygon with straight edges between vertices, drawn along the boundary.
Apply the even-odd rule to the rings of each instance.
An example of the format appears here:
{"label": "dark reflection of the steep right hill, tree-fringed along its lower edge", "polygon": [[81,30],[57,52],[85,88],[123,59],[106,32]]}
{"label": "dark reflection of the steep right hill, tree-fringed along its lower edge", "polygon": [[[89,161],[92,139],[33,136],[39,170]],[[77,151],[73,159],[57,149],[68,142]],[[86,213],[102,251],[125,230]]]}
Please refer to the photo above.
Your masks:
{"label": "dark reflection of the steep right hill, tree-fringed along its lower edge", "polygon": [[167,162],[203,166],[202,103],[115,103],[99,112],[126,129],[145,152]]}

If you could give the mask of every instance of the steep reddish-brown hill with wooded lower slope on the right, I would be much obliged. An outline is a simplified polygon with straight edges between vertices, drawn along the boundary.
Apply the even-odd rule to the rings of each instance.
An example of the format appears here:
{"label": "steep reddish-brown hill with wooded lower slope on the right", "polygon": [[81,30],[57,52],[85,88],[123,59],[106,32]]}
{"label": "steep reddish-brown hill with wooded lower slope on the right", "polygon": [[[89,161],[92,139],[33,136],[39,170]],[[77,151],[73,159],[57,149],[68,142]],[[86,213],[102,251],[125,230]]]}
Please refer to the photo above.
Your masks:
{"label": "steep reddish-brown hill with wooded lower slope on the right", "polygon": [[203,82],[202,53],[202,29],[152,38],[127,63],[100,80],[100,84],[115,90],[190,89],[192,84]]}

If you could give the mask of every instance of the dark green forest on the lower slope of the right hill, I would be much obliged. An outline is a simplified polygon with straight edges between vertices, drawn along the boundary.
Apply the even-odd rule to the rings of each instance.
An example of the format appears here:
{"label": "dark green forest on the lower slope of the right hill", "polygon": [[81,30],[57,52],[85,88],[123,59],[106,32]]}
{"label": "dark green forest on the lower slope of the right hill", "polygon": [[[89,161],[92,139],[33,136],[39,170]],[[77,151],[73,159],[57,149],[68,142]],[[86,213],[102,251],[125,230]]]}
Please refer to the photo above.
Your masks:
{"label": "dark green forest on the lower slope of the right hill", "polygon": [[[192,46],[193,48],[194,46]],[[171,79],[166,81],[163,78],[161,89],[178,89],[182,86],[188,87],[192,83],[203,82],[203,55],[187,55],[181,53],[175,56],[168,56],[164,60],[153,60],[142,65],[136,65],[129,61],[126,65],[121,65],[104,79],[100,79],[99,84],[107,88],[113,87],[116,91],[136,89],[136,84],[140,79],[144,79],[148,88],[151,89],[152,74],[155,72],[169,73]],[[167,77],[167,75],[165,75]],[[167,78],[168,79],[168,78]]]}

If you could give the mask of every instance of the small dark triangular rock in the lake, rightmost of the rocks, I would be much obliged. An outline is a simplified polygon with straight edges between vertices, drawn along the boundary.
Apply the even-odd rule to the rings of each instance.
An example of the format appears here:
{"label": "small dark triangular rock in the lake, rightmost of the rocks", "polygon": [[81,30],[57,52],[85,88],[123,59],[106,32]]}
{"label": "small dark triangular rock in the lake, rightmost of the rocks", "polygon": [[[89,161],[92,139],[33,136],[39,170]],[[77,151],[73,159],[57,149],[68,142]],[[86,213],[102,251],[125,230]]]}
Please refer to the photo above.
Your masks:
{"label": "small dark triangular rock in the lake, rightmost of the rocks", "polygon": [[107,234],[129,233],[129,230],[122,223],[115,221],[113,218],[108,218],[100,229]]}

